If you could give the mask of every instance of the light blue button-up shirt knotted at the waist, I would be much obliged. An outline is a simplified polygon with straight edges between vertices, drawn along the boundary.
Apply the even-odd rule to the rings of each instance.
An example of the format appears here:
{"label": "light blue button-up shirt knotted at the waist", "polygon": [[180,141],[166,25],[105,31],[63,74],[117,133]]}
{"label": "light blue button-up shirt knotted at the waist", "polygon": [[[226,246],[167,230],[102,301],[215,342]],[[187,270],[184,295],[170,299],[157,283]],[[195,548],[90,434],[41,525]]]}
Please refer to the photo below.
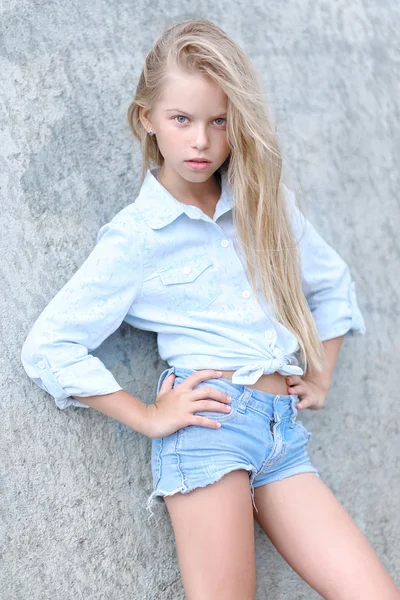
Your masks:
{"label": "light blue button-up shirt knotted at the waist", "polygon": [[[88,407],[72,396],[122,389],[90,352],[123,321],[157,332],[160,357],[170,366],[235,370],[232,381],[242,385],[274,371],[303,375],[297,339],[251,290],[226,173],[210,218],[174,198],[156,172],[149,170],[136,200],[100,228],[92,252],[39,315],[22,347],[27,374],[59,408]],[[347,264],[285,190],[302,288],[321,340],[364,334]]]}

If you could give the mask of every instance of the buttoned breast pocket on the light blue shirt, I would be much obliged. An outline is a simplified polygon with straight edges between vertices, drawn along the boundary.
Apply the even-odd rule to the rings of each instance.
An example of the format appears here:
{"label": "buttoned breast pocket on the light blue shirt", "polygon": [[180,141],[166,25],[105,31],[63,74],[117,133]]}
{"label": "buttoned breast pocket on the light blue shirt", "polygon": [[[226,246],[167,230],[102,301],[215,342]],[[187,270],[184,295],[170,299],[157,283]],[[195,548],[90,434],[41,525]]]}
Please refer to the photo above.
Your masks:
{"label": "buttoned breast pocket on the light blue shirt", "polygon": [[207,254],[190,255],[156,268],[174,309],[185,312],[205,310],[221,293]]}

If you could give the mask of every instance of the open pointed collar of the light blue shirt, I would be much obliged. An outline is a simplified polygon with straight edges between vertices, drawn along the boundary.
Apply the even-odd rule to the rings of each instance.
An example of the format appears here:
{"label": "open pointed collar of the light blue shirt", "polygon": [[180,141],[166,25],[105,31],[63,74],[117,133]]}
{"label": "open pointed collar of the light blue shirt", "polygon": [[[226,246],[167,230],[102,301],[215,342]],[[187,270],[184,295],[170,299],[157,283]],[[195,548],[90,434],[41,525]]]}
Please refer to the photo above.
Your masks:
{"label": "open pointed collar of the light blue shirt", "polygon": [[218,217],[232,208],[232,189],[226,171],[221,172],[221,196],[215,208],[214,218],[211,219],[198,206],[184,204],[174,198],[157,179],[160,168],[148,169],[134,203],[152,229],[165,227],[183,213],[191,219],[215,222]]}

